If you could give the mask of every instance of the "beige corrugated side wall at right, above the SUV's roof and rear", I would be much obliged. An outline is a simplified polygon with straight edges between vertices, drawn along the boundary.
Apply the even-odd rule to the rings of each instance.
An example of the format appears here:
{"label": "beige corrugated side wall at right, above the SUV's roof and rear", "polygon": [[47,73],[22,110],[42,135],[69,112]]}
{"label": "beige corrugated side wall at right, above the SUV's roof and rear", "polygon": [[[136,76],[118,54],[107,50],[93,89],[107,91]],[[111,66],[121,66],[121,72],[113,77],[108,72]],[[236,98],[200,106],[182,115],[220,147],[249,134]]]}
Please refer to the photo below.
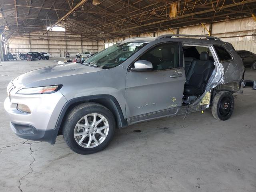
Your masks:
{"label": "beige corrugated side wall at right, above the SUV's roof and rear", "polygon": [[[204,25],[209,30],[210,24]],[[180,34],[208,35],[207,30],[202,25],[180,28],[179,31]],[[155,36],[174,34],[176,32],[176,29],[160,30],[159,32],[155,32]],[[154,36],[154,33],[149,34],[140,34],[138,37]],[[252,34],[256,34],[256,22],[253,18],[230,20],[227,22],[212,24],[212,36],[216,36],[221,38],[223,41],[230,42],[236,50],[248,50],[256,53],[256,40],[252,39]],[[131,37],[136,36],[126,36],[124,39]]]}

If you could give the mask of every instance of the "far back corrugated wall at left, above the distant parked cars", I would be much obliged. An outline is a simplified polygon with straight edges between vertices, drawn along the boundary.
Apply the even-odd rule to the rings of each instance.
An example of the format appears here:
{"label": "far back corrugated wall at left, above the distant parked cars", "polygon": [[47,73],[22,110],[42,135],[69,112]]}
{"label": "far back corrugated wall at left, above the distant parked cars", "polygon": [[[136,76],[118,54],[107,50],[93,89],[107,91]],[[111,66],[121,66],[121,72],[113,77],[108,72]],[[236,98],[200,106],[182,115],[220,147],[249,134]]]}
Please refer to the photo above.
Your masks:
{"label": "far back corrugated wall at left, above the distant parked cars", "polygon": [[[42,32],[41,32],[42,33]],[[40,32],[33,32],[22,37],[9,39],[10,52],[48,52],[52,57],[64,56],[70,53],[71,57],[82,52],[98,52],[98,42],[83,38],[68,32],[49,32],[44,39],[38,39]]]}

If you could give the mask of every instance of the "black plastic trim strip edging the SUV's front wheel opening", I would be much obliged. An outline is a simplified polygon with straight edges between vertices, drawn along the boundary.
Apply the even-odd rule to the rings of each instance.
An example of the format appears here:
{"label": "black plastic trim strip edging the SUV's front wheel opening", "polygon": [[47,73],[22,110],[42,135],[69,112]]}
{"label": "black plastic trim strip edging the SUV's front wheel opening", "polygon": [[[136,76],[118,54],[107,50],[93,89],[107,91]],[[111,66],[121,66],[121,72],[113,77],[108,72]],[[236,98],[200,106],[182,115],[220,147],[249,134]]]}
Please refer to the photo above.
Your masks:
{"label": "black plastic trim strip edging the SUV's front wheel opening", "polygon": [[58,135],[58,131],[61,127],[63,118],[68,110],[68,108],[72,105],[75,104],[77,102],[86,102],[89,100],[100,100],[100,99],[108,99],[112,102],[112,106],[114,107],[114,116],[116,118],[117,124],[119,127],[126,127],[128,126],[127,124],[127,120],[124,118],[124,114],[122,112],[122,109],[120,107],[120,104],[118,103],[118,101],[116,100],[116,98],[114,98],[114,96],[112,95],[108,95],[108,94],[100,94],[100,95],[91,95],[91,96],[82,96],[82,97],[78,97],[78,98],[73,98],[71,100],[69,100],[68,102],[66,102],[66,104],[63,106],[60,115],[58,117],[58,120],[56,122],[56,126],[54,128],[54,138],[52,139],[52,144],[55,143],[56,137]]}

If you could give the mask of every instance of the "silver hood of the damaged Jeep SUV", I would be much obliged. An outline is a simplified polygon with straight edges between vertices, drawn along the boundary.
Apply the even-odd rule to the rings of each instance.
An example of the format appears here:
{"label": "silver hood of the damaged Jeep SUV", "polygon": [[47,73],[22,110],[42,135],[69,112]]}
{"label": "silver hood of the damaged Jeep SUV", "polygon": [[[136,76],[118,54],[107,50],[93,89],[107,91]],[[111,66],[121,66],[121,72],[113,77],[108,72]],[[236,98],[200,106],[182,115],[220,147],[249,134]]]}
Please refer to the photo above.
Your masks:
{"label": "silver hood of the damaged Jeep SUV", "polygon": [[20,88],[23,85],[30,84],[32,82],[48,80],[52,78],[72,76],[77,74],[85,74],[91,72],[97,72],[104,70],[102,68],[89,67],[79,63],[70,63],[63,65],[50,66],[45,68],[40,68],[22,74],[14,79],[13,83],[16,87]]}

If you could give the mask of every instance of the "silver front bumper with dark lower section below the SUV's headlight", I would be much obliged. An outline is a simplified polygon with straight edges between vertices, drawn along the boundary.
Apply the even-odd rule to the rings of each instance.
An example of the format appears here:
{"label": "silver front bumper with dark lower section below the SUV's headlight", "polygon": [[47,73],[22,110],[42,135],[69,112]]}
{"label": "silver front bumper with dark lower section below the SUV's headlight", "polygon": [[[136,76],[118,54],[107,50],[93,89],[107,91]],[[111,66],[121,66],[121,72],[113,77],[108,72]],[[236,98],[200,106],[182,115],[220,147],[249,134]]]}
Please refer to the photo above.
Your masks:
{"label": "silver front bumper with dark lower section below the SUV's headlight", "polygon": [[[67,100],[60,91],[52,94],[22,95],[12,91],[4,101],[4,109],[10,119],[12,131],[28,140],[55,143],[58,133],[56,122]],[[24,104],[31,113],[17,110],[17,104]]]}

